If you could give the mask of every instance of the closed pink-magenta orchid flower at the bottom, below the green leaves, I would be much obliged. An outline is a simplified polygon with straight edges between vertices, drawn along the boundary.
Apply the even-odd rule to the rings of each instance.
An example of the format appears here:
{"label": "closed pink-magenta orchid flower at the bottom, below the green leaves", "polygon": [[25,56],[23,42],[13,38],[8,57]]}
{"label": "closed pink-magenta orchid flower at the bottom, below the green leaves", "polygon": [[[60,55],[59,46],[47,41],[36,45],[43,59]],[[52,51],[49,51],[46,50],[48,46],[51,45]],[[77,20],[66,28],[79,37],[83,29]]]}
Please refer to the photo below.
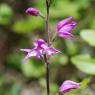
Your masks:
{"label": "closed pink-magenta orchid flower at the bottom, below the green leaves", "polygon": [[71,80],[66,80],[63,82],[63,84],[59,88],[59,92],[60,93],[67,93],[71,89],[78,89],[78,88],[80,88],[80,83],[76,83]]}

